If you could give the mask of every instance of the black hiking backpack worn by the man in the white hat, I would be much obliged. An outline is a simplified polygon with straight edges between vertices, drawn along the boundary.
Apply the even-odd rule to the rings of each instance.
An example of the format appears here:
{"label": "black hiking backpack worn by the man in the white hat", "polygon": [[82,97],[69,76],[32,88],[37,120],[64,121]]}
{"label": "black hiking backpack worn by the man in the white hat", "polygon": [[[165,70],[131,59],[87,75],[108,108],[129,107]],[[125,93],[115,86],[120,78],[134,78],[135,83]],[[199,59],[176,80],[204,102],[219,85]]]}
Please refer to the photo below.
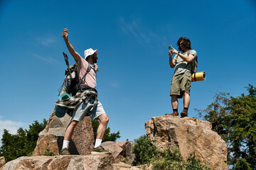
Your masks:
{"label": "black hiking backpack worn by the man in the white hat", "polygon": [[90,64],[88,64],[87,70],[85,72],[85,74],[82,77],[82,81],[80,82],[78,79],[78,64],[73,64],[71,66],[69,66],[68,63],[68,55],[65,54],[65,52],[63,52],[64,55],[64,59],[65,59],[65,63],[67,64],[68,69],[65,69],[65,79],[63,81],[62,86],[60,86],[59,94],[58,96],[60,96],[61,91],[63,90],[63,86],[65,86],[65,89],[67,89],[67,93],[68,94],[72,94],[72,96],[75,96],[75,94],[78,92],[78,90],[80,89],[80,84],[85,82],[85,77],[87,75],[88,72],[90,72],[90,69],[92,68],[90,66]]}

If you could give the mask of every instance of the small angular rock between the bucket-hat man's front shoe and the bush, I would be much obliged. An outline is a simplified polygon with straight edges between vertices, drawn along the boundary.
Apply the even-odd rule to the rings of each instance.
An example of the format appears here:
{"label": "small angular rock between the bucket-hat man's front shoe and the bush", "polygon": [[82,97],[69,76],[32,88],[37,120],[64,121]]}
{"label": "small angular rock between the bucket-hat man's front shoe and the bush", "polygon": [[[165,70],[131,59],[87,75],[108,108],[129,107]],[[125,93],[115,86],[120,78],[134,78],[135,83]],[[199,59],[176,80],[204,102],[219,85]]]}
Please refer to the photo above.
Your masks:
{"label": "small angular rock between the bucket-hat man's front shoe and the bush", "polygon": [[102,143],[102,147],[112,153],[114,163],[122,161],[129,165],[134,165],[135,155],[132,153],[133,146],[134,142],[132,141]]}

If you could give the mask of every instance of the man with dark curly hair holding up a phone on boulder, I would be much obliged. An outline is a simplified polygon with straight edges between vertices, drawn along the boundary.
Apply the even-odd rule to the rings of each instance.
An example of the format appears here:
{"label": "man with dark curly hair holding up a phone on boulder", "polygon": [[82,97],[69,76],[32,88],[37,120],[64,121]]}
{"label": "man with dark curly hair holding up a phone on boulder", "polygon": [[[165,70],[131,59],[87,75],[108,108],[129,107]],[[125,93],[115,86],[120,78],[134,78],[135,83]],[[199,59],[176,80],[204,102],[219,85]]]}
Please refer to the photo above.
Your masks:
{"label": "man with dark curly hair holding up a phone on boulder", "polygon": [[[183,96],[183,111],[181,118],[188,116],[188,106],[190,103],[191,89],[191,62],[196,57],[196,51],[191,50],[191,41],[186,37],[181,37],[177,42],[178,52],[174,48],[169,50],[169,64],[175,67],[174,76],[171,79],[171,106],[174,113],[166,115],[178,115],[178,98]],[[174,59],[172,58],[173,55]]]}

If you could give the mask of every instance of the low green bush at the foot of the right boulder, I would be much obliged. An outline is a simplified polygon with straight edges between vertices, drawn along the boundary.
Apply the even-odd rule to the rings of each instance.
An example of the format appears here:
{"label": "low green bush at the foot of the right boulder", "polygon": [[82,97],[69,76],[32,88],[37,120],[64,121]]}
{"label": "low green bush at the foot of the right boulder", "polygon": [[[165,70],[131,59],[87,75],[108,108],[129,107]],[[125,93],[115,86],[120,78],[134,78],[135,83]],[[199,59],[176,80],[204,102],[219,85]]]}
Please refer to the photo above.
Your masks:
{"label": "low green bush at the foot of the right boulder", "polygon": [[178,148],[169,148],[160,152],[146,135],[134,142],[133,152],[137,165],[152,164],[154,170],[210,170],[208,166],[201,165],[194,155],[191,155],[186,162],[183,161]]}

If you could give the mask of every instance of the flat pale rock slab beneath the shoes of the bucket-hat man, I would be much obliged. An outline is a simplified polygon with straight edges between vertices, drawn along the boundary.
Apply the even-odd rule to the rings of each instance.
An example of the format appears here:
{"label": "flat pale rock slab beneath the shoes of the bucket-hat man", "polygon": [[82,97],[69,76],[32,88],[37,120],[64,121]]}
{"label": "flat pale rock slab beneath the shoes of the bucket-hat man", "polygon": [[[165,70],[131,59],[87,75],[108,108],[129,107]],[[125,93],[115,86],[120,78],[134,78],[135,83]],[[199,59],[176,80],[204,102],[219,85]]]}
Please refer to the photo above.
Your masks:
{"label": "flat pale rock slab beneath the shoes of the bucket-hat man", "polygon": [[112,154],[92,152],[90,155],[70,155],[70,156],[33,156],[19,157],[14,161],[6,163],[0,170],[112,170],[114,159]]}

